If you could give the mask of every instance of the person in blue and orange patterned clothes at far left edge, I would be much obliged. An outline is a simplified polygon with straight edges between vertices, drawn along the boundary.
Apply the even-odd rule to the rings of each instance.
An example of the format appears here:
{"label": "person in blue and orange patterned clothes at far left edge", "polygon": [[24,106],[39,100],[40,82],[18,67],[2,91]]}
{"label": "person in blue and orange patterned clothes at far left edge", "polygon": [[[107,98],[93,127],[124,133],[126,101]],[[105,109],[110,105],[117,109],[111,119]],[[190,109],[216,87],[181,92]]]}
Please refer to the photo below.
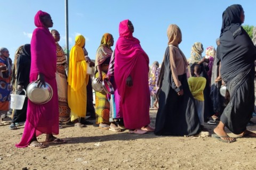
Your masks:
{"label": "person in blue and orange patterned clothes at far left edge", "polygon": [[9,111],[12,90],[12,60],[7,48],[0,48],[0,124]]}

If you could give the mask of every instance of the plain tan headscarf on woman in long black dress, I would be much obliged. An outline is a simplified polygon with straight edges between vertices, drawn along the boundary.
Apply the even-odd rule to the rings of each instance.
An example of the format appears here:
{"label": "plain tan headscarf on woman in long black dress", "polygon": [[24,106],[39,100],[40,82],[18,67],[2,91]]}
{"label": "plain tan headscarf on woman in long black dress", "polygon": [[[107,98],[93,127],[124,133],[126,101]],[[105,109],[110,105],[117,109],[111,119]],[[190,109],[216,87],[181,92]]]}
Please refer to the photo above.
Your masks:
{"label": "plain tan headscarf on woman in long black dress", "polygon": [[179,44],[182,41],[182,35],[181,35],[181,30],[178,27],[178,25],[171,24],[167,28],[167,37],[169,39],[168,45],[173,45],[178,47]]}

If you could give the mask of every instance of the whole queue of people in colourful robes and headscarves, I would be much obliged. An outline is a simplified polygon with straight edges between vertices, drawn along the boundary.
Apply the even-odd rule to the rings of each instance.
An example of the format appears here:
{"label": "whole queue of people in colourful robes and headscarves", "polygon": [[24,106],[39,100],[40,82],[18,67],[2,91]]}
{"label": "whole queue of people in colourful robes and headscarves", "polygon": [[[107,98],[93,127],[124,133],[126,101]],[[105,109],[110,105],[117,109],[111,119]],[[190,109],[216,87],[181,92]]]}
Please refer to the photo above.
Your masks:
{"label": "whole queue of people in colourful robes and headscarves", "polygon": [[[181,29],[178,25],[169,25],[163,63],[160,66],[154,62],[149,72],[149,57],[140,41],[133,37],[130,20],[119,23],[114,50],[111,49],[113,36],[110,33],[102,36],[95,64],[88,57],[84,36],[76,36],[68,65],[66,54],[58,44],[59,32],[49,30],[53,27],[50,14],[38,11],[31,44],[17,49],[14,70],[7,48],[0,49],[1,115],[9,110],[12,73],[14,91],[20,94],[34,81],[37,87],[47,82],[53,90],[53,97],[47,103],[37,104],[26,99],[21,110],[14,110],[11,130],[17,129],[17,123],[26,121],[16,146],[45,148],[49,143],[66,143],[53,135],[59,134],[62,125],[84,128],[92,124],[86,121],[86,113],[91,119],[95,118],[101,129],[114,132],[127,129],[135,134],[154,131],[156,135],[177,136],[207,131],[204,123],[218,116],[220,122],[212,134],[214,139],[236,141],[228,136],[225,127],[239,137],[256,137],[254,132],[246,130],[254,112],[256,48],[241,26],[244,22],[241,5],[229,6],[222,19],[217,50],[209,46],[206,56],[202,57],[203,44],[197,42],[191,47],[189,60],[179,48]],[[95,74],[87,74],[92,66]],[[97,83],[110,81],[114,88],[112,94],[95,91],[95,109],[92,77]],[[221,85],[227,87],[225,99],[220,97]],[[157,109],[155,128],[150,125],[150,107]],[[38,135],[43,133],[45,142],[38,142]]]}

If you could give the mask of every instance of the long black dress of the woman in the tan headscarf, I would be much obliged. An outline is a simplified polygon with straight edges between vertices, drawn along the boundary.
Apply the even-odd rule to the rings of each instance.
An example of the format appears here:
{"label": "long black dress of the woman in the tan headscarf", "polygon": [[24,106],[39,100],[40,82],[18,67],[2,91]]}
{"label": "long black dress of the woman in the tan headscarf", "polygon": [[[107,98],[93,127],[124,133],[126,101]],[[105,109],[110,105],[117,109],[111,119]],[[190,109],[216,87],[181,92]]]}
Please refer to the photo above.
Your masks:
{"label": "long black dress of the woman in the tan headscarf", "polygon": [[156,115],[156,135],[195,135],[200,129],[199,118],[196,111],[194,98],[189,90],[187,75],[179,75],[182,84],[183,96],[175,90],[178,88],[173,81],[169,47],[166,48],[165,58],[162,63],[162,87],[159,89],[159,108]]}

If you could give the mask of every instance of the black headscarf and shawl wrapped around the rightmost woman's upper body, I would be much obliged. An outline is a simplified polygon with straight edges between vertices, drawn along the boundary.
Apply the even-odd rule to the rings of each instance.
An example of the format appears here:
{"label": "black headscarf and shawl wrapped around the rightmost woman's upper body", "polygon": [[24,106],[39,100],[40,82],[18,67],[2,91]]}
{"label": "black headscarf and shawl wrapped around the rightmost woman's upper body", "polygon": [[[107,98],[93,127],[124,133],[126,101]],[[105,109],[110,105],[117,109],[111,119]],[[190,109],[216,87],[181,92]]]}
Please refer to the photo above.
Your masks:
{"label": "black headscarf and shawl wrapped around the rightmost woman's upper body", "polygon": [[231,5],[222,14],[220,35],[221,77],[228,82],[238,73],[252,68],[256,49],[241,26],[241,5]]}

